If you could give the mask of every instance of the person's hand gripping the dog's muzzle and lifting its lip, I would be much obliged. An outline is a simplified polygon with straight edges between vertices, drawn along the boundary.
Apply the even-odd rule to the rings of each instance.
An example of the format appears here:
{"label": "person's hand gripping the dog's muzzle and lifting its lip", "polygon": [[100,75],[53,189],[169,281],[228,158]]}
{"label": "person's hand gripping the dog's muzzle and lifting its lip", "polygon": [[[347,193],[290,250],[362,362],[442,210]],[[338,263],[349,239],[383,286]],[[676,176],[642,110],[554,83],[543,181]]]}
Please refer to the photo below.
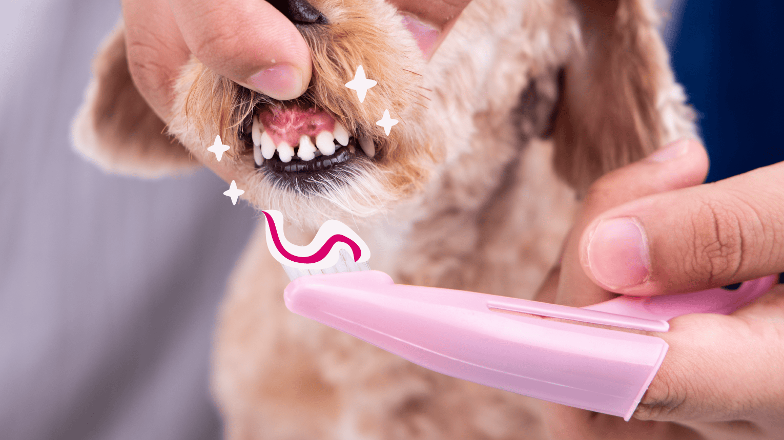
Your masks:
{"label": "person's hand gripping the dog's muzzle and lifting its lip", "polygon": [[[407,26],[429,56],[470,0],[393,0],[419,20]],[[173,81],[191,54],[205,66],[277,100],[310,83],[310,50],[294,24],[263,0],[123,0],[129,68],[155,113],[168,121]]]}

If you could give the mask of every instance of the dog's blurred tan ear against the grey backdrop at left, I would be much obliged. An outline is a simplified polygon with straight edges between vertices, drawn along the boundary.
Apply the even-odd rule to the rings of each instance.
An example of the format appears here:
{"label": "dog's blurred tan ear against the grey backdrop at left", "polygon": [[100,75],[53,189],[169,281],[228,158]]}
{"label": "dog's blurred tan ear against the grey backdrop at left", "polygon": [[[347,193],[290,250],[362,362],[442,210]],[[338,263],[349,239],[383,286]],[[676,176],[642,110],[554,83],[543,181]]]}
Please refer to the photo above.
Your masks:
{"label": "dog's blurred tan ear against the grey backdrop at left", "polygon": [[114,173],[158,177],[198,166],[133,85],[122,20],[93,60],[85,100],[71,127],[76,150]]}

